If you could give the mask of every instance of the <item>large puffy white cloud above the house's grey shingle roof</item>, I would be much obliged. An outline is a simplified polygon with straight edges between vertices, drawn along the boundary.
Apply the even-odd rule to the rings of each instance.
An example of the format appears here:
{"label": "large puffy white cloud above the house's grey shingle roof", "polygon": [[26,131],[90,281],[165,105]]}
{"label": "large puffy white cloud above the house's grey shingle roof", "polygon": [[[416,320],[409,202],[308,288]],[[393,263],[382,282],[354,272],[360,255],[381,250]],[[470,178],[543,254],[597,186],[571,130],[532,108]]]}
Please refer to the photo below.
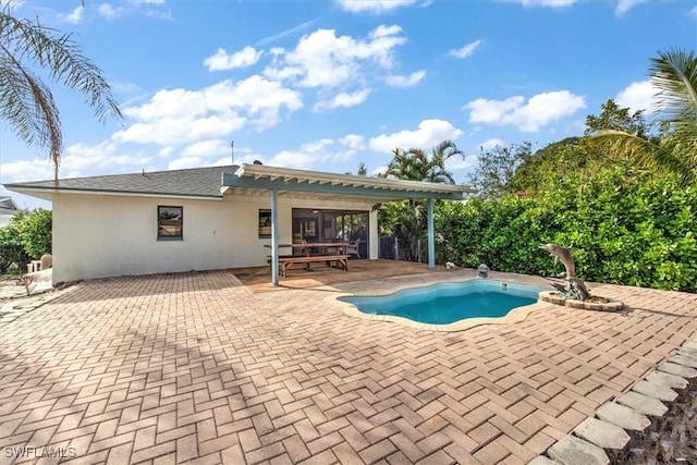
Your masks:
{"label": "large puffy white cloud above the house's grey shingle roof", "polygon": [[222,81],[199,90],[159,90],[142,106],[123,109],[135,122],[113,138],[139,144],[180,145],[199,138],[220,138],[253,124],[278,123],[281,111],[302,108],[299,95],[280,83],[253,75]]}

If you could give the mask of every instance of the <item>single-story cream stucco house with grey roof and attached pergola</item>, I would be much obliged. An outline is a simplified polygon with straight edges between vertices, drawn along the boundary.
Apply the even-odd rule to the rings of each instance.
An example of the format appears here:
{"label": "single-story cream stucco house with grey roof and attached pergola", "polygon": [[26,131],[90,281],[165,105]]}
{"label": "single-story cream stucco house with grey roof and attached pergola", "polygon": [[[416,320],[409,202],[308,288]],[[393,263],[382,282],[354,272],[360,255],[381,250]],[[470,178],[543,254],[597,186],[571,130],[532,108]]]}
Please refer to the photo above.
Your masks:
{"label": "single-story cream stucco house with grey roof and attached pergola", "polygon": [[[261,164],[5,187],[52,201],[54,283],[265,266],[269,256],[279,256],[278,245],[299,241],[359,241],[362,257],[376,259],[376,206],[405,198],[429,199],[432,247],[432,200],[463,199],[472,192]],[[278,284],[278,272],[272,276]]]}

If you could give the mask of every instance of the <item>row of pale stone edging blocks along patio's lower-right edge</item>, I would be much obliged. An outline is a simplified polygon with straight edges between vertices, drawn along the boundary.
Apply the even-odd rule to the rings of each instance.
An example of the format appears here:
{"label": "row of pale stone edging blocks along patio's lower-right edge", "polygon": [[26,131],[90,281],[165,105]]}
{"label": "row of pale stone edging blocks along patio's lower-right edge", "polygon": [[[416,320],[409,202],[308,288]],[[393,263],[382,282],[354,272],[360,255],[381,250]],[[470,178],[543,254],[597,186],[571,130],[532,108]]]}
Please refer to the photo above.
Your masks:
{"label": "row of pale stone edging blocks along patio's lower-right edge", "polygon": [[676,400],[696,389],[697,339],[693,339],[632,390],[598,408],[596,418],[585,419],[528,465],[627,463],[629,448],[671,412]]}

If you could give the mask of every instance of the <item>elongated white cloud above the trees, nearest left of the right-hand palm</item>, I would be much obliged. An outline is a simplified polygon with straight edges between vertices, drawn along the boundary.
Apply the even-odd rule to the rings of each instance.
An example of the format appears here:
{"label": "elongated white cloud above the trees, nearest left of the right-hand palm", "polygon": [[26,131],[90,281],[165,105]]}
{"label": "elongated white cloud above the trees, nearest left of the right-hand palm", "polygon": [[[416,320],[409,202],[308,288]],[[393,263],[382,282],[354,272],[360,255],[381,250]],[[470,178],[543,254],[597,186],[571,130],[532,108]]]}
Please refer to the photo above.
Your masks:
{"label": "elongated white cloud above the trees, nearest left of the right-hand palm", "polygon": [[469,110],[472,123],[513,125],[523,132],[537,132],[582,108],[586,108],[584,97],[568,90],[538,94],[527,103],[524,97],[515,96],[505,100],[479,98],[463,107],[464,110]]}

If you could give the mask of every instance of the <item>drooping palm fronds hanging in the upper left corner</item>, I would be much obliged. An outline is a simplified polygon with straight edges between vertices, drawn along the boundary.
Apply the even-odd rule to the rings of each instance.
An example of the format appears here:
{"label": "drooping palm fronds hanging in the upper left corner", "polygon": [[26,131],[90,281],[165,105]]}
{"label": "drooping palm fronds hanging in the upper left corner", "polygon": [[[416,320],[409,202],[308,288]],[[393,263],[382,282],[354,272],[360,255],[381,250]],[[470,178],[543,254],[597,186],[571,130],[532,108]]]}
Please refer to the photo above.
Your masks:
{"label": "drooping palm fronds hanging in the upper left corner", "polygon": [[16,19],[8,5],[0,11],[0,119],[7,120],[27,145],[47,149],[58,169],[63,149],[61,119],[48,85],[35,73],[48,72],[51,81],[85,95],[101,123],[108,115],[121,119],[111,87],[101,70],[82,54],[70,35],[42,26],[38,20]]}

